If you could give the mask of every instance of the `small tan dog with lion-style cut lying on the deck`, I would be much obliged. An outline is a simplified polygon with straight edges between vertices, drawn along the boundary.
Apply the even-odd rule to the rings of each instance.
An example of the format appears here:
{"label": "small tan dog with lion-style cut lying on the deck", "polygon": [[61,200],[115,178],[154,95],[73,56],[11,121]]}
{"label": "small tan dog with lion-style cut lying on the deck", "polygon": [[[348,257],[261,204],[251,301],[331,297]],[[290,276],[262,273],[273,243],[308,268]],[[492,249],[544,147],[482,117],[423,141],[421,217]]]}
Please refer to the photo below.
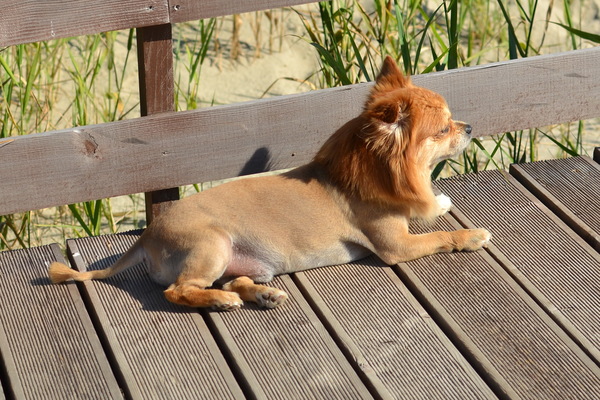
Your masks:
{"label": "small tan dog with lion-style cut lying on the deck", "polygon": [[[102,279],[145,262],[166,298],[192,307],[275,307],[287,295],[255,282],[375,253],[387,264],[485,246],[485,229],[412,235],[412,217],[433,220],[450,199],[430,174],[461,152],[471,127],[453,121],[445,100],[412,85],[391,58],[357,118],[314,160],[287,173],[230,182],[178,201],[111,267],[77,272],[50,266],[54,283]],[[225,281],[222,290],[210,289]]]}

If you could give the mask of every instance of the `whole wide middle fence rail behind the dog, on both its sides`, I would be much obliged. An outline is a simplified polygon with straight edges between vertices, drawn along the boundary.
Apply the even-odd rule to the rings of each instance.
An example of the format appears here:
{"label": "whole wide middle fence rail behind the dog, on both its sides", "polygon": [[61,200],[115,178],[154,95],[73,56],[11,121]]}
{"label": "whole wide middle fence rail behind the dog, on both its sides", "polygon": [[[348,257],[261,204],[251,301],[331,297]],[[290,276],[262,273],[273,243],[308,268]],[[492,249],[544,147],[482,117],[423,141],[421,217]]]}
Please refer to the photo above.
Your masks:
{"label": "whole wide middle fence rail behind the dog, on both its sides", "polygon": [[[415,76],[475,136],[597,117],[600,48]],[[507,83],[508,82],[508,83]],[[370,84],[0,142],[0,215],[289,168],[356,116]]]}

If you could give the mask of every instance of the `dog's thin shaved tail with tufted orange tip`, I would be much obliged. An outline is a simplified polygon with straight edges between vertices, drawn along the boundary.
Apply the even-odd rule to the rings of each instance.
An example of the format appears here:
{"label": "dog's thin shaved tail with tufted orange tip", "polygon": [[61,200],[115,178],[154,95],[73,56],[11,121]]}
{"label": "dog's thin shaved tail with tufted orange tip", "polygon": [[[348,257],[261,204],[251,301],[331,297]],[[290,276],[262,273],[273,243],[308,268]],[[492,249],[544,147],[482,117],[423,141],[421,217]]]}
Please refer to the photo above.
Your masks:
{"label": "dog's thin shaved tail with tufted orange tip", "polygon": [[104,279],[116,275],[142,261],[144,261],[144,249],[138,241],[116,263],[106,269],[79,272],[63,263],[53,262],[48,267],[48,275],[52,283],[61,283],[68,280],[81,282],[89,279]]}

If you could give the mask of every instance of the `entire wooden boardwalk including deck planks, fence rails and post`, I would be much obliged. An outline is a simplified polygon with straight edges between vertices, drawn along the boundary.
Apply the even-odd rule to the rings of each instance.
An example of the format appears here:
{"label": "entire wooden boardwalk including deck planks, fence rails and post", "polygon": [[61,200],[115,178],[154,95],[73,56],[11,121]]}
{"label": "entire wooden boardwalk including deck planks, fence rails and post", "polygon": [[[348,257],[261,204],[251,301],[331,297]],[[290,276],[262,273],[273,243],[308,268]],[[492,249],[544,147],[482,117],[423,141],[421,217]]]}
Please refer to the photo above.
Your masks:
{"label": "entire wooden boardwalk including deck planks, fence rails and post", "polygon": [[[171,26],[308,1],[17,1],[0,46],[137,29],[140,118],[0,139],[0,215],[300,165],[370,84],[173,112]],[[73,23],[77,21],[77,23]],[[600,48],[415,76],[478,136],[600,116]],[[331,107],[335,104],[335,107]],[[277,277],[290,300],[234,313],[168,303],[143,265],[50,285],[57,245],[0,253],[0,399],[595,399],[600,393],[600,151],[436,182],[433,227],[492,245]],[[78,269],[140,232],[69,240]]]}

